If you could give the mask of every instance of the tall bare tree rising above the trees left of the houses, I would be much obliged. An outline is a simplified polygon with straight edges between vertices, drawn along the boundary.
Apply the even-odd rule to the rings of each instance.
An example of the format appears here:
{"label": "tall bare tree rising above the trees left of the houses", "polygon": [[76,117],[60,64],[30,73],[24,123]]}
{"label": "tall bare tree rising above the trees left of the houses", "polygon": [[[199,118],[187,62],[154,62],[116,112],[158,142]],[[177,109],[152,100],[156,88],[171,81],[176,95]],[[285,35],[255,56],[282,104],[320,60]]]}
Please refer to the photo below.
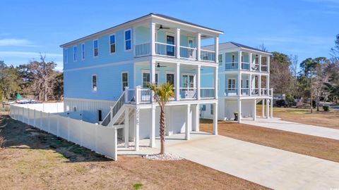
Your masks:
{"label": "tall bare tree rising above the trees left of the houses", "polygon": [[46,55],[40,53],[40,61],[30,61],[28,69],[32,75],[32,86],[35,96],[39,100],[47,101],[49,94],[52,94],[54,87],[55,73],[54,68],[57,64],[46,62]]}

